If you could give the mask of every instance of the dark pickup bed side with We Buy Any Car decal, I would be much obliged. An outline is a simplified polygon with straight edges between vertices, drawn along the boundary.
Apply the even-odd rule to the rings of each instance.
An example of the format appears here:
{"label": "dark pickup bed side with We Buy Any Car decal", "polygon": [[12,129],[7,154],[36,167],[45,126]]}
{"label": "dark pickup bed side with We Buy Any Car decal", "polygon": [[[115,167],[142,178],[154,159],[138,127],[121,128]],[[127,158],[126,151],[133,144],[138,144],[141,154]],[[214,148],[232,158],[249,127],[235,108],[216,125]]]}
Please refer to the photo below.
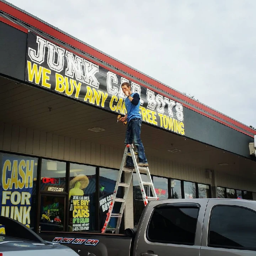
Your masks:
{"label": "dark pickup bed side with We Buy Any Car decal", "polygon": [[129,256],[132,238],[122,234],[42,232],[42,239],[63,244],[80,256]]}

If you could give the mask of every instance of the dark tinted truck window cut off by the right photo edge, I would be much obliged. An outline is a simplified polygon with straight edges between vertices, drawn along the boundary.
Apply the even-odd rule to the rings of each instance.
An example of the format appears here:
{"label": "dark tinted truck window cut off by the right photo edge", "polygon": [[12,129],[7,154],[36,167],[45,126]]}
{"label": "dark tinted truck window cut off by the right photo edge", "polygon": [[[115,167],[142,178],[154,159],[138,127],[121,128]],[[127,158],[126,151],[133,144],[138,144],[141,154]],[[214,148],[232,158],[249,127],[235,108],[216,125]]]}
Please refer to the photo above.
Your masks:
{"label": "dark tinted truck window cut off by the right photo edge", "polygon": [[215,206],[210,217],[208,246],[256,250],[256,212],[237,206]]}

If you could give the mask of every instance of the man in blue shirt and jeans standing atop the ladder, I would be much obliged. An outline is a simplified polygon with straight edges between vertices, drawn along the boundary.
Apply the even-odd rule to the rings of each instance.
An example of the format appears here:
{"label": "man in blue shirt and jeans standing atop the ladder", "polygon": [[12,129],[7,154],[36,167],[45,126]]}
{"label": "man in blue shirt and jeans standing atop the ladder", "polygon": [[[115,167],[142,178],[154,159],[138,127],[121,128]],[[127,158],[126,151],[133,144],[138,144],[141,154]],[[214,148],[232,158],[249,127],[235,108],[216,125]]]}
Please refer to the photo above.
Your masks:
{"label": "man in blue shirt and jeans standing atop the ladder", "polygon": [[[140,96],[138,93],[132,93],[131,87],[128,82],[123,82],[121,87],[124,95],[127,96],[124,101],[127,114],[121,118],[122,122],[127,120],[126,138],[124,143],[128,145],[132,144],[132,142],[134,141],[134,144],[136,145],[138,151],[138,166],[147,167],[149,165],[145,156],[142,140],[140,139],[140,127],[142,124],[142,119],[139,113]],[[128,152],[130,152],[129,149]],[[127,156],[126,166],[124,167],[134,169],[134,164],[131,156]]]}

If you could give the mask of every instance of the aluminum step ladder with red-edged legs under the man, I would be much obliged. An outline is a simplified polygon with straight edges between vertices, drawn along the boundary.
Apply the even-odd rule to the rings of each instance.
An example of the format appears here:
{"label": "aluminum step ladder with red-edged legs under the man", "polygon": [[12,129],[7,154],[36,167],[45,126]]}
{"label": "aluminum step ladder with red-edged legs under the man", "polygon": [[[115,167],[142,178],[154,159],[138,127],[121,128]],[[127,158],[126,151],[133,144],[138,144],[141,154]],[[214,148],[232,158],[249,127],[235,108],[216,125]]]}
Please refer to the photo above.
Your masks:
{"label": "aluminum step ladder with red-edged legs under the man", "polygon": [[[130,153],[128,152],[128,149],[130,149]],[[124,207],[125,207],[125,204],[126,204],[126,198],[127,198],[127,195],[128,195],[130,184],[132,182],[133,170],[134,170],[134,169],[129,169],[129,168],[124,167],[126,165],[127,156],[132,157],[133,164],[134,164],[134,169],[136,171],[138,181],[139,181],[140,190],[142,192],[142,198],[143,198],[144,205],[146,206],[146,204],[148,204],[148,201],[153,201],[153,200],[158,200],[159,199],[159,197],[156,196],[156,192],[155,192],[155,188],[154,188],[154,185],[153,185],[153,181],[151,179],[149,168],[137,165],[136,160],[137,160],[138,153],[134,152],[133,144],[128,144],[126,146],[126,148],[124,149],[123,159],[122,159],[122,163],[121,163],[121,166],[120,166],[120,169],[119,169],[119,174],[118,174],[116,186],[114,188],[114,193],[113,193],[113,196],[112,196],[112,199],[111,199],[111,202],[110,202],[110,207],[108,209],[107,218],[106,218],[105,224],[104,224],[104,226],[101,230],[101,233],[105,233],[106,230],[108,230],[107,226],[108,226],[108,223],[110,222],[110,218],[115,217],[115,218],[118,218],[118,220],[117,220],[116,229],[114,229],[114,231],[115,231],[115,234],[119,234],[121,219],[122,219],[122,216],[123,216]],[[140,171],[146,172],[146,176],[147,176],[149,181],[143,181],[142,180],[142,177],[140,175]],[[128,178],[127,178],[128,182],[127,183],[122,183],[121,182],[121,176],[122,176],[123,172],[126,172],[126,173],[129,174],[129,175],[127,175],[128,176]],[[144,186],[149,186],[149,188],[151,189],[153,197],[146,196]],[[117,194],[117,191],[118,191],[119,187],[126,187],[126,191],[124,192],[124,197],[123,198],[117,198],[116,197],[116,194]],[[148,194],[150,194],[150,189],[148,190]],[[122,202],[119,213],[112,213],[115,202]],[[111,229],[111,230],[113,230],[113,229]]]}

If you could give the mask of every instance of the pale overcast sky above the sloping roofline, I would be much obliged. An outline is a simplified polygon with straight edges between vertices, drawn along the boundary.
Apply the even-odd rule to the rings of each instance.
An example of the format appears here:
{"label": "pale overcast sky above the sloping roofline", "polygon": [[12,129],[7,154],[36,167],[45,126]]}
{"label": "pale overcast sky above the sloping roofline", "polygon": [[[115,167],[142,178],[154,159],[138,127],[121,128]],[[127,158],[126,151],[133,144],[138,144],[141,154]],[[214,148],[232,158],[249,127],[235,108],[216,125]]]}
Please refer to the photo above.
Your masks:
{"label": "pale overcast sky above the sloping roofline", "polygon": [[255,0],[9,0],[256,128]]}

